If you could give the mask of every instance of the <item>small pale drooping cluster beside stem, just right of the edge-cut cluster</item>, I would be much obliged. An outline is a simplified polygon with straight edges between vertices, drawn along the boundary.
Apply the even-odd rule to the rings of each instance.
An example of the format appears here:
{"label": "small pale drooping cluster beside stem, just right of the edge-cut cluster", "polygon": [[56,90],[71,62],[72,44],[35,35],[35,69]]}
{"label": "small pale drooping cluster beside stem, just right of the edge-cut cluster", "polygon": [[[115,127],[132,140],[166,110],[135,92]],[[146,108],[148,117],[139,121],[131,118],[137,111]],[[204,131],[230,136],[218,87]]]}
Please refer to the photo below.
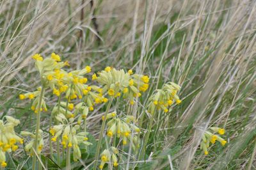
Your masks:
{"label": "small pale drooping cluster beside stem, just right of the edge-cut cluster", "polygon": [[[28,144],[26,144],[25,146],[25,151],[29,152],[30,155],[33,155],[34,151],[33,151],[33,146],[35,144],[35,137],[36,135],[35,134],[32,134],[31,132],[26,132],[26,131],[22,131],[20,132],[20,135],[24,136],[24,137],[30,137],[31,140],[28,142]],[[38,133],[38,146],[36,148],[36,153],[37,154],[40,154],[41,151],[43,150],[44,148],[44,139],[42,137],[43,135],[43,131],[42,130],[39,130],[39,133]]]}

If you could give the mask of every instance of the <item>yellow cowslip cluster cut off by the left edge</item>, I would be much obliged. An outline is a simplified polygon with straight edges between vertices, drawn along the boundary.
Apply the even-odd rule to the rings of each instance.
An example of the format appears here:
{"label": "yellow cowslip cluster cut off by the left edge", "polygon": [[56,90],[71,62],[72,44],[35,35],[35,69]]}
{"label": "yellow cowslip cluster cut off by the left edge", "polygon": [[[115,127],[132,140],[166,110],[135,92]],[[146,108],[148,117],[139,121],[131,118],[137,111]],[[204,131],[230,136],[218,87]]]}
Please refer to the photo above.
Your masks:
{"label": "yellow cowslip cluster cut off by the left edge", "polygon": [[1,167],[6,167],[6,157],[5,153],[10,153],[11,151],[16,151],[19,146],[17,143],[23,143],[23,139],[19,137],[15,131],[14,127],[19,125],[20,121],[12,118],[11,116],[4,116],[6,121],[0,120],[0,164]]}

